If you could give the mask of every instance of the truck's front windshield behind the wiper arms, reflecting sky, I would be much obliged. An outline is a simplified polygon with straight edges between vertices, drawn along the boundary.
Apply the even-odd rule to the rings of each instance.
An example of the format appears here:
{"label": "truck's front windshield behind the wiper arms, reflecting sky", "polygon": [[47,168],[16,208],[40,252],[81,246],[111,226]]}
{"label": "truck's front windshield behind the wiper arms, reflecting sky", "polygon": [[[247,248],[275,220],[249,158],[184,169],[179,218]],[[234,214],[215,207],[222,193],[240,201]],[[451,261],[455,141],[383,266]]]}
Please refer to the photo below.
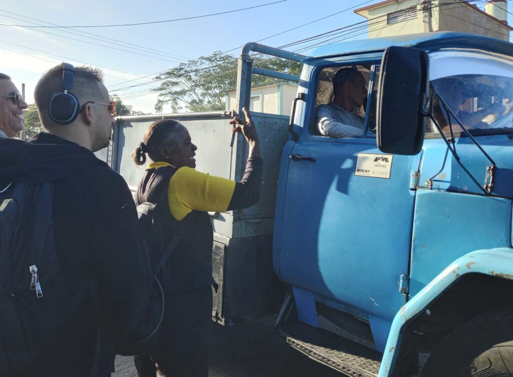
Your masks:
{"label": "truck's front windshield behind the wiper arms, reflecting sky", "polygon": [[[430,82],[430,91],[436,91],[441,95],[470,134],[513,133],[512,62],[488,54],[460,54],[468,55],[465,64],[461,64],[458,55],[432,60],[434,67],[431,71],[435,74],[431,77],[435,77]],[[447,76],[437,74],[441,64],[446,64]],[[455,136],[461,136],[462,129],[454,117],[449,117],[439,101],[433,101],[432,105],[433,116],[442,131],[450,133],[450,122]],[[430,120],[427,123],[426,136],[441,137]]]}

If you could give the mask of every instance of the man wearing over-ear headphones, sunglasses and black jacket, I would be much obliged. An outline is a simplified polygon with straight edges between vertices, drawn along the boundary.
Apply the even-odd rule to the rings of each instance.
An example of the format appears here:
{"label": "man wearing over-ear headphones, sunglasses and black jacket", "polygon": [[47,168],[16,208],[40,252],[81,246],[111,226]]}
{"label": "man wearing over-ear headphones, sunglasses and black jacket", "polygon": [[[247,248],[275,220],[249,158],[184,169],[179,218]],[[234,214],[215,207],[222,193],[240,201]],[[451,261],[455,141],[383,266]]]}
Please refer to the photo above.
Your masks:
{"label": "man wearing over-ear headphones, sunglasses and black jacket", "polygon": [[[132,195],[93,154],[109,144],[114,124],[102,76],[91,67],[53,67],[34,92],[45,131],[30,142],[0,139],[0,187],[52,182],[56,263],[80,302],[72,325],[19,374],[24,377],[110,375],[115,345],[134,331],[150,301],[152,274]],[[22,270],[29,274],[28,266]],[[45,273],[36,270],[36,282]],[[95,282],[91,291],[89,281]],[[51,283],[41,284],[38,302],[45,310]]]}

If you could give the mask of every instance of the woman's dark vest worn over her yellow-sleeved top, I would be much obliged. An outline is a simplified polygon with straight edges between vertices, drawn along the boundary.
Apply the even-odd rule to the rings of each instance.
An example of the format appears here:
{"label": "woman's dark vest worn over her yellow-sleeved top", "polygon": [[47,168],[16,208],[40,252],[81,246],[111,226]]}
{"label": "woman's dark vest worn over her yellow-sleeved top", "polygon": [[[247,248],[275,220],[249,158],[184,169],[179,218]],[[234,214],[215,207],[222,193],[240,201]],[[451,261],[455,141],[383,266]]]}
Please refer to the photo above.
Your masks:
{"label": "woman's dark vest worn over her yellow-sleeved top", "polygon": [[[170,212],[167,196],[169,181],[176,171],[173,166],[147,169],[137,187],[137,204],[157,204],[155,209],[165,219],[164,244],[171,240],[178,224]],[[212,277],[213,233],[208,213],[192,211],[181,221],[184,222],[184,235],[163,269],[166,292],[185,292],[215,285]]]}

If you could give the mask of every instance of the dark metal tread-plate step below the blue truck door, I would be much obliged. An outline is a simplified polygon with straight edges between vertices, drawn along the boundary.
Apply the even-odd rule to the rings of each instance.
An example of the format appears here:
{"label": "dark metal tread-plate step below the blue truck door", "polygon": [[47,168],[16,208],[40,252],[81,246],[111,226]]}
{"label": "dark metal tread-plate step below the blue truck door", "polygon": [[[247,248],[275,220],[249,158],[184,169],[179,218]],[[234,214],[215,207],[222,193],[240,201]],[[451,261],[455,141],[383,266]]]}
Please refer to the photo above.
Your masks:
{"label": "dark metal tread-plate step below the blue truck door", "polygon": [[302,322],[282,324],[289,345],[315,361],[353,377],[377,377],[382,354],[324,329]]}

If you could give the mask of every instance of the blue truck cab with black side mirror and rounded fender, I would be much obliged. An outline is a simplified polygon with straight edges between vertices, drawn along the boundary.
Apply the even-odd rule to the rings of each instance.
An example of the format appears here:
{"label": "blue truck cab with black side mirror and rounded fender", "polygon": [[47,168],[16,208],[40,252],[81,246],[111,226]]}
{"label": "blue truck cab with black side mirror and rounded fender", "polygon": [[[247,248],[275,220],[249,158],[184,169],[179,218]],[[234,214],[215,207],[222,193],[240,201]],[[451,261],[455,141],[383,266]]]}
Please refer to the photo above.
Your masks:
{"label": "blue truck cab with black side mirror and rounded fender", "polygon": [[[319,125],[343,68],[365,79],[360,137]],[[349,375],[416,374],[419,353],[431,353],[423,375],[496,367],[448,344],[479,344],[465,326],[513,313],[512,84],[513,46],[470,34],[334,44],[304,60],[273,238],[292,346]],[[312,330],[325,319],[352,343]],[[491,344],[513,340],[495,331]]]}

